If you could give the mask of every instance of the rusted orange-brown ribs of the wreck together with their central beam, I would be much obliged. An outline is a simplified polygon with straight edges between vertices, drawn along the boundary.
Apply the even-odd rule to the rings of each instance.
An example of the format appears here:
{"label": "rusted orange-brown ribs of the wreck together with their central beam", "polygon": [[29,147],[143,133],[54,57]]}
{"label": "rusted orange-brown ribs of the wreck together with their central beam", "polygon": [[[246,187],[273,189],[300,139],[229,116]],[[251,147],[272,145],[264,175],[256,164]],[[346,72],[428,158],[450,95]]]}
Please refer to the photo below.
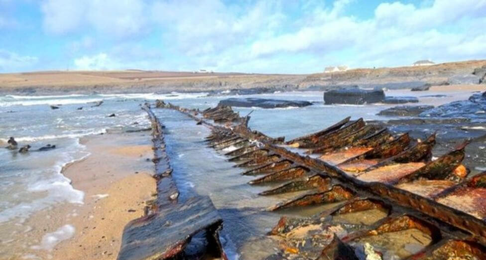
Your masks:
{"label": "rusted orange-brown ribs of the wreck together with their central beam", "polygon": [[[317,146],[321,144],[324,144],[323,146],[325,146],[326,143],[332,142],[333,138],[336,138],[332,136],[337,136],[339,134],[337,132],[342,133],[344,129],[349,130],[350,125],[357,124],[357,122],[349,124],[344,123],[343,125],[346,124],[346,126],[341,125],[326,134],[320,135],[319,138],[317,138],[317,141],[311,134],[296,138],[287,142],[287,144],[292,145],[294,143],[299,143],[300,145],[300,143],[305,142],[300,147],[306,145],[311,147],[312,145]],[[340,125],[340,123],[336,125]],[[365,123],[363,122],[362,128],[364,127],[364,124]],[[216,126],[216,128],[218,127]],[[302,225],[317,223],[321,225],[320,227],[326,229],[331,227],[322,226],[322,218],[325,216],[337,217],[352,212],[359,212],[360,210],[372,209],[373,207],[379,207],[386,210],[388,213],[387,217],[373,223],[367,228],[361,228],[360,232],[352,233],[352,236],[343,240],[344,242],[340,241],[339,238],[326,242],[328,243],[326,245],[331,245],[329,250],[335,250],[339,245],[349,247],[346,243],[352,241],[353,238],[358,239],[374,234],[380,236],[380,234],[386,232],[395,232],[404,229],[418,229],[421,232],[430,234],[432,242],[421,252],[423,254],[413,255],[413,259],[434,259],[430,257],[435,257],[436,252],[443,252],[442,250],[444,250],[444,248],[446,248],[446,251],[444,252],[450,252],[451,250],[459,252],[457,250],[464,249],[465,252],[469,252],[467,254],[480,256],[478,259],[482,259],[481,257],[483,255],[480,254],[481,251],[478,251],[478,249],[484,249],[484,246],[486,245],[486,212],[481,210],[486,208],[485,205],[482,204],[486,198],[486,174],[477,178],[472,178],[468,181],[462,181],[459,185],[456,183],[457,181],[460,181],[461,178],[451,178],[455,177],[451,175],[451,172],[461,167],[461,156],[464,157],[464,146],[466,143],[462,147],[441,156],[436,161],[428,162],[431,155],[430,150],[435,143],[435,135],[432,135],[424,142],[419,142],[410,148],[408,148],[410,143],[408,134],[403,134],[393,141],[390,141],[391,135],[386,130],[379,130],[376,133],[356,138],[350,144],[352,147],[369,145],[369,143],[376,144],[376,147],[370,152],[350,160],[376,159],[376,163],[378,164],[375,165],[375,167],[366,170],[366,172],[389,165],[397,165],[396,167],[399,168],[409,163],[417,163],[417,166],[420,165],[420,163],[422,164],[420,167],[412,167],[410,173],[391,178],[389,181],[383,181],[384,183],[382,183],[360,180],[359,177],[361,176],[358,176],[357,178],[326,161],[311,158],[309,156],[302,156],[299,153],[291,152],[284,147],[276,146],[273,144],[274,140],[269,139],[268,136],[259,132],[251,131],[243,126],[238,126],[238,128],[238,130],[235,130],[235,127],[232,127],[232,129],[227,128],[226,131],[238,134],[249,140],[259,141],[258,146],[261,148],[258,149],[269,151],[268,154],[261,156],[261,160],[265,161],[268,159],[268,156],[275,155],[278,158],[278,161],[261,164],[259,167],[250,169],[244,174],[256,175],[269,172],[269,176],[271,176],[272,173],[275,174],[275,172],[282,171],[282,169],[275,168],[275,165],[277,165],[278,162],[288,162],[289,165],[285,165],[286,169],[300,166],[305,167],[309,172],[318,173],[318,175],[312,175],[305,179],[288,182],[282,186],[263,192],[261,195],[306,190],[308,188],[311,190],[318,190],[318,192],[312,191],[297,199],[278,204],[270,210],[313,205],[315,203],[330,203],[332,201],[343,202],[336,208],[326,211],[327,213],[322,213],[315,218],[313,217],[299,221]],[[358,128],[357,130],[362,130],[362,128]],[[221,130],[225,131],[225,129]],[[356,130],[354,130],[354,132],[356,132]],[[326,136],[329,138],[326,139]],[[342,136],[346,135],[341,135],[341,137]],[[336,148],[330,149],[330,152],[335,152],[335,150]],[[241,154],[243,153],[240,153],[239,155]],[[236,154],[232,155],[237,156]],[[252,163],[257,161],[255,159],[253,159]],[[441,164],[444,165],[445,163],[448,164],[447,167],[440,167]],[[246,166],[250,165],[246,164]],[[383,174],[389,173],[390,171],[383,171]],[[320,182],[317,185],[318,187],[313,185],[310,181],[311,177],[317,178],[317,176],[326,180]],[[265,176],[263,178],[265,178]],[[327,180],[329,180],[329,182]],[[439,181],[444,183],[439,183]],[[445,181],[447,181],[447,183]],[[396,186],[390,185],[396,183],[398,183]],[[449,184],[451,186],[449,186]],[[322,186],[328,187],[328,185],[332,185],[332,188],[329,190],[322,189]],[[409,186],[406,187],[403,185]],[[433,187],[433,189],[428,190],[427,192],[424,190],[422,193],[417,190],[408,191],[407,189],[409,189],[410,185],[422,185],[424,187]],[[442,190],[439,189],[440,185],[444,185]],[[338,192],[333,189],[342,189],[344,192]],[[456,201],[469,200],[476,205],[471,205],[471,207],[468,208],[460,203],[448,204],[445,201],[445,198],[456,199]],[[476,206],[476,208],[474,206]],[[404,214],[404,212],[406,214]],[[276,229],[284,229],[284,226],[285,225],[282,225],[281,222],[279,222]],[[276,234],[278,234],[278,232],[271,235]],[[445,243],[444,241],[448,242]],[[449,243],[449,241],[453,242]],[[330,252],[329,250],[328,252]],[[326,252],[323,251],[322,256],[333,256],[326,255],[325,253]],[[305,254],[301,256],[304,255]],[[334,257],[339,257],[339,255],[334,255]]]}

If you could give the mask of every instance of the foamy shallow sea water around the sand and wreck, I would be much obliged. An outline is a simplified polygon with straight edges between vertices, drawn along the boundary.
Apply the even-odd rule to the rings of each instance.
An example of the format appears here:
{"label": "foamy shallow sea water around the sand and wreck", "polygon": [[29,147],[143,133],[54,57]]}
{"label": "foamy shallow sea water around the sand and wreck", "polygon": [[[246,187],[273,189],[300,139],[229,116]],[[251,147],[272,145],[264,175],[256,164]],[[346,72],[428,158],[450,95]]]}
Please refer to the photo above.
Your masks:
{"label": "foamy shallow sea water around the sand and wreck", "polygon": [[[84,202],[83,191],[75,189],[61,171],[64,165],[89,156],[80,143],[82,136],[149,127],[146,113],[140,109],[144,102],[162,99],[187,108],[206,109],[228,97],[231,96],[208,97],[207,93],[0,96],[0,146],[6,146],[10,136],[15,137],[19,147],[31,145],[30,152],[25,154],[0,148],[0,259],[7,258],[6,249],[17,243],[12,238],[14,232],[21,229],[28,234],[32,227],[22,225],[32,214],[61,203]],[[250,128],[273,137],[286,136],[286,139],[322,130],[348,116],[353,119],[363,117],[365,120],[386,119],[376,116],[376,113],[393,106],[324,105],[322,92],[244,97],[315,102],[313,106],[305,108],[235,108],[242,116],[251,113]],[[99,101],[103,101],[103,104],[94,107]],[[50,105],[58,106],[59,109],[52,110]],[[224,156],[205,148],[201,140],[209,134],[208,129],[195,126],[194,121],[175,111],[158,110],[157,113],[167,126],[166,138],[168,144],[171,144],[168,151],[171,164],[175,172],[179,173],[176,183],[181,190],[181,198],[194,193],[209,195],[221,210],[225,221],[232,223],[224,233],[228,241],[246,241],[252,236],[263,240],[263,234],[278,221],[278,216],[263,213],[262,209],[282,198],[258,198],[256,194],[268,187],[249,187],[246,182],[251,178],[240,175],[241,169],[231,167],[232,164]],[[111,114],[116,117],[108,117]],[[56,148],[36,151],[47,144],[56,145]],[[203,156],[198,156],[202,150]],[[231,196],[225,197],[224,194]],[[255,223],[256,219],[262,222]],[[71,237],[75,230],[69,224],[64,223],[54,232],[46,232],[45,241],[43,239],[32,249],[50,250],[55,246],[50,241]],[[234,237],[232,234],[238,233],[235,227],[243,226],[252,229]],[[262,241],[261,245],[265,243]],[[233,246],[241,249],[246,244]]]}

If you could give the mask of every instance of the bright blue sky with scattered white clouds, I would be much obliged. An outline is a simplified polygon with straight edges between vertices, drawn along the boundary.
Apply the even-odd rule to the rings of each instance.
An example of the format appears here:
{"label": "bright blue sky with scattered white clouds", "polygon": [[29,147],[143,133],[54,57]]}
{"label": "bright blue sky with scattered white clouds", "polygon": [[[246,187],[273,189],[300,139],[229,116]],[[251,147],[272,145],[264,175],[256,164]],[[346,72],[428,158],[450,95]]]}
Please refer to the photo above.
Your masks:
{"label": "bright blue sky with scattered white clouds", "polygon": [[486,0],[0,0],[0,73],[486,59]]}

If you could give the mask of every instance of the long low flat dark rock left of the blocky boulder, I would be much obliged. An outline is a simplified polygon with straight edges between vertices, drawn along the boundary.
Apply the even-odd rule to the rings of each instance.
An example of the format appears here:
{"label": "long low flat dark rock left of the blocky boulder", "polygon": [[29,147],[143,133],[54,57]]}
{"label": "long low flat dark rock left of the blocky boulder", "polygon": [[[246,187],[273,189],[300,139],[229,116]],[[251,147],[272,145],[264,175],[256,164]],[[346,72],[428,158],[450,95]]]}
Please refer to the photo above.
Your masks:
{"label": "long low flat dark rock left of the blocky boulder", "polygon": [[277,100],[277,99],[259,99],[259,98],[229,98],[221,100],[218,106],[231,107],[257,107],[257,108],[288,108],[288,107],[306,107],[312,105],[308,101],[296,100]]}

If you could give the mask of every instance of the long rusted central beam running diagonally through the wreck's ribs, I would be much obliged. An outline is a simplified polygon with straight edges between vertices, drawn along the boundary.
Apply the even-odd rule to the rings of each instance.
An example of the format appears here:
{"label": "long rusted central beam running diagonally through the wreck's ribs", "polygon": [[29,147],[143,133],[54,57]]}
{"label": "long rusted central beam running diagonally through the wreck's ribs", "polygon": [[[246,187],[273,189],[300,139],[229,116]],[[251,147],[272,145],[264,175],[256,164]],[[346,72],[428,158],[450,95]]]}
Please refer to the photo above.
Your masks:
{"label": "long rusted central beam running diagonally through the wreck's ribs", "polygon": [[[183,113],[188,115],[185,112]],[[232,129],[214,126],[209,123],[206,123],[205,125],[210,128],[219,128],[221,130],[225,129],[227,131],[232,131]],[[248,131],[249,130],[240,130],[238,131],[238,134],[243,134],[242,137],[246,137],[244,133]],[[312,171],[319,172],[319,174],[322,174],[323,176],[332,177],[335,181],[345,187],[358,189],[360,194],[365,195],[365,197],[375,197],[377,199],[381,199],[390,205],[400,206],[407,212],[415,212],[417,214],[422,214],[423,212],[425,215],[422,215],[424,216],[430,216],[440,222],[446,223],[447,225],[438,223],[441,230],[443,227],[450,225],[469,233],[471,237],[468,238],[468,240],[477,241],[480,244],[486,245],[486,223],[465,212],[437,203],[432,199],[422,197],[412,192],[398,189],[389,184],[361,181],[357,178],[349,176],[346,172],[338,167],[335,167],[322,160],[311,158],[310,156],[304,157],[298,153],[288,151],[283,147],[279,147],[265,141],[265,138],[255,139],[262,142],[262,147],[280,154],[282,159],[289,159],[294,161],[294,163],[301,164],[302,166],[309,168]],[[444,232],[447,233],[450,232],[450,230],[446,229]],[[460,237],[459,239],[464,240],[464,237]]]}

